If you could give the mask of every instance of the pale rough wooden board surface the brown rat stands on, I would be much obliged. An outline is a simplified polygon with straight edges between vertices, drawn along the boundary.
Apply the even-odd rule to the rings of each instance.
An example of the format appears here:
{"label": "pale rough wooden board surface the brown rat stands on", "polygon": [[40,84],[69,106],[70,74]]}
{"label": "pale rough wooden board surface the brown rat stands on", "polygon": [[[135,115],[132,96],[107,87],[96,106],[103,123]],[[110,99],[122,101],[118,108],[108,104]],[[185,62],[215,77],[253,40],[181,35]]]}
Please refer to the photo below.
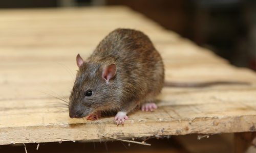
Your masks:
{"label": "pale rough wooden board surface the brown rat stands on", "polygon": [[[116,126],[113,117],[70,119],[67,109],[55,105],[61,101],[48,94],[68,98],[76,55],[86,58],[120,27],[141,30],[152,39],[164,59],[167,81],[251,85],[165,87],[159,109],[136,111],[124,126]],[[253,71],[231,66],[124,7],[0,10],[0,86],[0,144],[256,131]]]}

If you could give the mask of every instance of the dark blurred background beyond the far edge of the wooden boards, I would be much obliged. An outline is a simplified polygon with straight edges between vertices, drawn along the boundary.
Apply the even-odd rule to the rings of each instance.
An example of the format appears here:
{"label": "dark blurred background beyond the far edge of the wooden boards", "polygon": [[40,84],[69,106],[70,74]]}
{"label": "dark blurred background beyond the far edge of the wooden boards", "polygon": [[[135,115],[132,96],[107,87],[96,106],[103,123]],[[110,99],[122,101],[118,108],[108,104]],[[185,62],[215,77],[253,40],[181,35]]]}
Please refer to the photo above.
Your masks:
{"label": "dark blurred background beyond the far edge of the wooden boards", "polygon": [[214,51],[231,64],[256,70],[254,0],[10,0],[0,8],[124,5]]}

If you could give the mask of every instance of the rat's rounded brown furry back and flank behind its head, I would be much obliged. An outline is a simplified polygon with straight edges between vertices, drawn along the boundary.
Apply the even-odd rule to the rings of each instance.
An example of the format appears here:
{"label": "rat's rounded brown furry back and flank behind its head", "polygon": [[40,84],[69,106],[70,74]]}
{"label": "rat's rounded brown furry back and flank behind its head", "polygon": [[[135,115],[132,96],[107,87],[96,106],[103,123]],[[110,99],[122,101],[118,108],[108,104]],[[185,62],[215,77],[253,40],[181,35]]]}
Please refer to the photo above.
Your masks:
{"label": "rat's rounded brown furry back and flank behind its head", "polygon": [[153,101],[163,87],[162,58],[151,40],[140,31],[114,30],[99,43],[91,58],[116,64],[123,103]]}

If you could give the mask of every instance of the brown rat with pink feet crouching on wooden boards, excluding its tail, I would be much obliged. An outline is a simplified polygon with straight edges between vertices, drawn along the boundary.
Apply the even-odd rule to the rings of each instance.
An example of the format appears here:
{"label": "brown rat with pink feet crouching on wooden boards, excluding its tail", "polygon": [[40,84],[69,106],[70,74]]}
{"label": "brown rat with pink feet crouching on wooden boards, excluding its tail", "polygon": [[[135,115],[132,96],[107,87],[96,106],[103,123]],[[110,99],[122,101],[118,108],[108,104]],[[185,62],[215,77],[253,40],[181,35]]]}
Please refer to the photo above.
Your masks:
{"label": "brown rat with pink feet crouching on wooden boards, excluding its tail", "polygon": [[136,107],[153,111],[164,85],[164,64],[152,41],[132,29],[116,29],[100,41],[87,60],[78,54],[73,89],[69,97],[71,118],[98,119],[116,112],[124,124]]}

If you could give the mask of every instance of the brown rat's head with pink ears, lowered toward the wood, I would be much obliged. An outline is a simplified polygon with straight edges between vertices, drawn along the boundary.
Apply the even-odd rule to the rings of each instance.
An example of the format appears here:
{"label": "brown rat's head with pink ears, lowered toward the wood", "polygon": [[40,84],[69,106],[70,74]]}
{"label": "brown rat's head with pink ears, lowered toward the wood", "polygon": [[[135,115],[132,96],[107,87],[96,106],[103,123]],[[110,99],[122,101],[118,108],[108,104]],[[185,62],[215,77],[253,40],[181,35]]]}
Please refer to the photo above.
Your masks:
{"label": "brown rat's head with pink ears, lowered toward the wood", "polygon": [[69,116],[82,118],[108,109],[110,104],[107,99],[111,95],[116,65],[85,62],[79,54],[76,57],[76,63],[79,70],[69,97]]}

